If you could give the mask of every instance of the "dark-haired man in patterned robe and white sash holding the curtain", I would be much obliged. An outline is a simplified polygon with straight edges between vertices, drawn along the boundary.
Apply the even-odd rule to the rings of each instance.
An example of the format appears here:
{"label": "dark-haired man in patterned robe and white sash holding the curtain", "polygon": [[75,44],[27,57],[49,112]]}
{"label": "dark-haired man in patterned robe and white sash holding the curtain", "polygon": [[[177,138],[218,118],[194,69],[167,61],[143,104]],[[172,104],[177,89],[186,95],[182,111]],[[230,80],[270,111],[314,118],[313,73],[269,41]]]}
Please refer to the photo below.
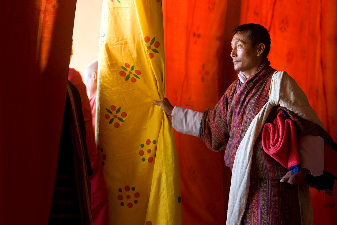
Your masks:
{"label": "dark-haired man in patterned robe and white sash holding the curtain", "polygon": [[[243,24],[234,30],[231,45],[239,79],[214,109],[200,113],[173,107],[167,99],[153,103],[172,116],[178,132],[200,136],[211,150],[225,151],[232,170],[227,224],[312,224],[310,193],[303,181],[307,173],[323,174],[324,142],[332,139],[296,82],[269,66],[266,28]],[[295,124],[299,137],[301,169],[293,174],[262,146],[263,126],[280,112]]]}

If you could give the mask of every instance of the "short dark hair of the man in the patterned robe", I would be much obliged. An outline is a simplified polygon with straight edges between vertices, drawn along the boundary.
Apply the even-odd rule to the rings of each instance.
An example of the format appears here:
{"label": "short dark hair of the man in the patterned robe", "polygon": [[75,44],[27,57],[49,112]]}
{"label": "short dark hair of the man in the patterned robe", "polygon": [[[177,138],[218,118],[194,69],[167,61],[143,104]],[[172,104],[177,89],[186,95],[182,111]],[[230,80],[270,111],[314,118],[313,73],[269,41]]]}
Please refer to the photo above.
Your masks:
{"label": "short dark hair of the man in the patterned robe", "polygon": [[268,30],[256,23],[246,23],[238,26],[233,31],[233,36],[237,33],[248,32],[247,39],[251,42],[252,47],[257,44],[265,44],[265,50],[263,51],[263,57],[267,58],[267,55],[270,51],[270,35]]}

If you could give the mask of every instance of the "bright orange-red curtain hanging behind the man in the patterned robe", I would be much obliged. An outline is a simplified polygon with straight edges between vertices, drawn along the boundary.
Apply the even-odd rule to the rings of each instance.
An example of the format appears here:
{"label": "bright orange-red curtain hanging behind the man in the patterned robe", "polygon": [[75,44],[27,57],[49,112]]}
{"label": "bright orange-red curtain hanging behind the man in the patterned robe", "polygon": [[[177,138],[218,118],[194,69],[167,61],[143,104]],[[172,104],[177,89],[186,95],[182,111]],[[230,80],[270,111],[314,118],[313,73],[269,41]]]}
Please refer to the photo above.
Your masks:
{"label": "bright orange-red curtain hanging behind the man in the patterned robe", "polygon": [[[285,70],[337,140],[334,0],[207,0],[163,2],[166,97],[173,105],[213,108],[237,79],[229,56],[232,32],[243,23],[270,31],[271,66]],[[201,139],[175,133],[181,175],[183,224],[224,224],[231,173],[223,155]],[[311,190],[314,224],[333,224],[335,196]]]}

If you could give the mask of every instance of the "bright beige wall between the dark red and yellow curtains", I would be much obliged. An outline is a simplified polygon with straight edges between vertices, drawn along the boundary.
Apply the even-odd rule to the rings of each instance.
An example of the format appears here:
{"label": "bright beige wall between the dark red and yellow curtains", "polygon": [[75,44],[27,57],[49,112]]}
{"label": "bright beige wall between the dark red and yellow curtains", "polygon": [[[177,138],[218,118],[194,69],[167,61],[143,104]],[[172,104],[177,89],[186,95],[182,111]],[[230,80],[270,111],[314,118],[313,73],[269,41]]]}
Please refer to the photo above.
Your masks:
{"label": "bright beige wall between the dark red and yellow curtains", "polygon": [[98,58],[102,0],[77,0],[73,40],[73,55],[69,67],[83,71]]}

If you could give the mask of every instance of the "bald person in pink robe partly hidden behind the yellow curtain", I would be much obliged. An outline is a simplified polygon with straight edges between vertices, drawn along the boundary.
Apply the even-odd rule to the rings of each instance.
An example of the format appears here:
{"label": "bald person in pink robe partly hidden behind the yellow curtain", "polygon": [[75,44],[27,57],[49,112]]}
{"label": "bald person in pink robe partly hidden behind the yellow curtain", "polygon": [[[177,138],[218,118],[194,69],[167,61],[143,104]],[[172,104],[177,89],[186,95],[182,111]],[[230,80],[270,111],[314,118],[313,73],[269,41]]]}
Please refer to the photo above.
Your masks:
{"label": "bald person in pink robe partly hidden behind the yellow curtain", "polygon": [[97,91],[97,66],[98,60],[94,60],[84,70],[84,84],[87,87],[87,94],[92,116],[92,128],[95,132],[95,118],[96,118],[96,91]]}

